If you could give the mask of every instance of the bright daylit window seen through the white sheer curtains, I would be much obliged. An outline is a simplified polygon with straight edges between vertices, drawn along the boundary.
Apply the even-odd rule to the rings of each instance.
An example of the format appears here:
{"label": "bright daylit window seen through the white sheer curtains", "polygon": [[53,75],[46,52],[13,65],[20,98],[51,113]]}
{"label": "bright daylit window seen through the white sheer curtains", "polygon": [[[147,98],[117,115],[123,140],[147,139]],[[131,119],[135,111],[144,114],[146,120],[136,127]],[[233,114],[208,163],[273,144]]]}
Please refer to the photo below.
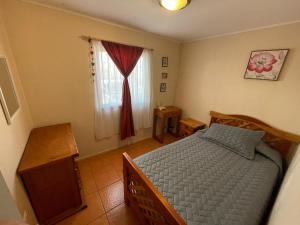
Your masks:
{"label": "bright daylit window seen through the white sheer curtains", "polygon": [[[122,84],[124,77],[101,45],[99,48],[98,61],[96,65],[96,79],[98,89],[101,90],[99,106],[101,108],[121,106]],[[151,75],[150,55],[144,50],[135,68],[128,77],[132,105],[143,107],[150,103]]]}

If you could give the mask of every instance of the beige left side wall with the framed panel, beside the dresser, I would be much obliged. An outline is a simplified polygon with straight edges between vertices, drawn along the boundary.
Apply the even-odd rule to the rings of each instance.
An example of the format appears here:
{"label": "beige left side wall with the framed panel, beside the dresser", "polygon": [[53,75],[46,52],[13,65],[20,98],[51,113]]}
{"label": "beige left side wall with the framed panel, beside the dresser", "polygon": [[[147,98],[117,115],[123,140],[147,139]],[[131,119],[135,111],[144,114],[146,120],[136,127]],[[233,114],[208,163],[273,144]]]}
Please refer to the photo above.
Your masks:
{"label": "beige left side wall with the framed panel, beside the dresser", "polygon": [[[7,125],[5,115],[0,107],[0,170],[9,188],[10,194],[16,201],[20,215],[27,214],[27,222],[35,222],[34,215],[26,197],[23,186],[16,176],[19,160],[27,142],[32,122],[28,112],[28,106],[24,98],[23,90],[18,76],[18,70],[9,48],[9,42],[0,14],[0,55],[6,56],[11,66],[13,79],[16,84],[17,94],[20,98],[21,108],[14,117],[12,124]],[[0,200],[1,207],[9,207],[7,202]],[[5,204],[5,205],[2,205]],[[7,209],[8,210],[8,209]]]}

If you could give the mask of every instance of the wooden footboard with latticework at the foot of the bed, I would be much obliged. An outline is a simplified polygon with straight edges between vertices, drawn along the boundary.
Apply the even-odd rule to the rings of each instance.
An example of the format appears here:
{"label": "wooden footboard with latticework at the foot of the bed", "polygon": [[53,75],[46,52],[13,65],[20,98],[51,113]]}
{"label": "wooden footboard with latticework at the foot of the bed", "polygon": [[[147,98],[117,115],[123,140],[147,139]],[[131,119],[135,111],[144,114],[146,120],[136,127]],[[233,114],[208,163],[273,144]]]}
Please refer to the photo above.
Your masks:
{"label": "wooden footboard with latticework at the foot of the bed", "polygon": [[186,225],[127,153],[123,153],[124,198],[143,225]]}

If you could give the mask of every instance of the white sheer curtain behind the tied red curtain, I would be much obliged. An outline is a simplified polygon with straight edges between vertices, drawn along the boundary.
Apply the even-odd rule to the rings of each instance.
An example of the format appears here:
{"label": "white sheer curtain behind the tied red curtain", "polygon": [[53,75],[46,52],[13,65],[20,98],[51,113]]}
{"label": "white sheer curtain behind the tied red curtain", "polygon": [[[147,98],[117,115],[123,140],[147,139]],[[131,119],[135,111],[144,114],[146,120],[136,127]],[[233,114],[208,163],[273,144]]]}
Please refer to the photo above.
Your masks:
{"label": "white sheer curtain behind the tied red curtain", "polygon": [[[95,136],[109,138],[119,133],[123,76],[101,42],[93,41],[95,61]],[[134,128],[152,126],[152,52],[144,49],[128,77]]]}

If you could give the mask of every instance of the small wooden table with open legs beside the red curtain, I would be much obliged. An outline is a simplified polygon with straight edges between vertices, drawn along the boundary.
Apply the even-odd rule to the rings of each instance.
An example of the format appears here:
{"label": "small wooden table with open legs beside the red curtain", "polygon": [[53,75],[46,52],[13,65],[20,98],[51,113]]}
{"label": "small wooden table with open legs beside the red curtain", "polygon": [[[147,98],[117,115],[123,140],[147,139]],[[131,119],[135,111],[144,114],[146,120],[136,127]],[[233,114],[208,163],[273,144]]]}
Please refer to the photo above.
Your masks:
{"label": "small wooden table with open legs beside the red curtain", "polygon": [[[160,135],[156,136],[157,119],[160,118]],[[167,106],[166,109],[159,110],[155,108],[153,111],[153,132],[152,137],[159,142],[164,142],[165,137],[165,124],[170,118],[176,119],[176,131],[175,135],[178,135],[179,131],[179,120],[181,118],[181,109],[176,106]]]}

